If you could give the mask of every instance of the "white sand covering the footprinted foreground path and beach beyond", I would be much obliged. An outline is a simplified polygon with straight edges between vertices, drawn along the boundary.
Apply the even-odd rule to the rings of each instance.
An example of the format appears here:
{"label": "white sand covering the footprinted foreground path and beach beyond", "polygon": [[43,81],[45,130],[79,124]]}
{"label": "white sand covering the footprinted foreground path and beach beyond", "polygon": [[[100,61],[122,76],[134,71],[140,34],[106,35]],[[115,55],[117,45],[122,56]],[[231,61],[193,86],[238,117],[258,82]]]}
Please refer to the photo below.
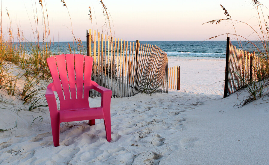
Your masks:
{"label": "white sand covering the footprinted foreground path and beach beyond", "polygon": [[[14,105],[0,103],[9,108],[0,109],[0,129],[14,127],[18,114],[17,128],[0,133],[0,164],[269,164],[268,101],[237,108],[237,94],[222,99],[215,82],[224,79],[223,58],[168,60],[181,67],[182,90],[112,98],[110,143],[102,120],[80,121],[62,123],[54,147],[48,108],[16,111],[16,97]],[[44,120],[30,127],[38,116]]]}

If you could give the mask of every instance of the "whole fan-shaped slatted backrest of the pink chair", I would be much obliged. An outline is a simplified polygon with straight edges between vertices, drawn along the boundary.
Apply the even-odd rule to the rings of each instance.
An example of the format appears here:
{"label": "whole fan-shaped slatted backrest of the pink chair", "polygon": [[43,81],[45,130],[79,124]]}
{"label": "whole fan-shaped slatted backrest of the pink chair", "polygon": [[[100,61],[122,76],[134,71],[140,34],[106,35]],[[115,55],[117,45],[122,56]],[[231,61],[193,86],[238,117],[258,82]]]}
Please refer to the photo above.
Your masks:
{"label": "whole fan-shaped slatted backrest of the pink chair", "polygon": [[47,62],[60,100],[60,110],[89,107],[93,58],[62,54],[48,58]]}

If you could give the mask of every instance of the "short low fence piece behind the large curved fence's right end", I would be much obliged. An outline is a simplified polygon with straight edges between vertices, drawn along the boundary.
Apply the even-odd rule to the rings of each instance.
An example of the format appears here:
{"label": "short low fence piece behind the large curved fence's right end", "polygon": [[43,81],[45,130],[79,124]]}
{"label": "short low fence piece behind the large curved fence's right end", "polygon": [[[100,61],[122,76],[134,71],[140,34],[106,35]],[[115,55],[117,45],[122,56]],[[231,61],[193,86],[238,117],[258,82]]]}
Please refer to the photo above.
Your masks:
{"label": "short low fence piece behind the large curved fence's right end", "polygon": [[180,90],[180,66],[168,68],[168,88]]}

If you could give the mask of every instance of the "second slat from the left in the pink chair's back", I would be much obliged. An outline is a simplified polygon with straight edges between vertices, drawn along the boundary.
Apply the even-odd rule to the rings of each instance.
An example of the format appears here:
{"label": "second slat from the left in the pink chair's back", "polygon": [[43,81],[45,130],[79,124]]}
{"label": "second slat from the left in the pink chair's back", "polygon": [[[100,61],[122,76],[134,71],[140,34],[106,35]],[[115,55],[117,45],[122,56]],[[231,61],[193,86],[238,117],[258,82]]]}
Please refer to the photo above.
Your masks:
{"label": "second slat from the left in the pink chair's back", "polygon": [[60,75],[60,80],[62,83],[64,99],[70,100],[70,90],[69,90],[69,82],[67,77],[67,70],[66,70],[66,57],[64,54],[56,56],[57,67]]}

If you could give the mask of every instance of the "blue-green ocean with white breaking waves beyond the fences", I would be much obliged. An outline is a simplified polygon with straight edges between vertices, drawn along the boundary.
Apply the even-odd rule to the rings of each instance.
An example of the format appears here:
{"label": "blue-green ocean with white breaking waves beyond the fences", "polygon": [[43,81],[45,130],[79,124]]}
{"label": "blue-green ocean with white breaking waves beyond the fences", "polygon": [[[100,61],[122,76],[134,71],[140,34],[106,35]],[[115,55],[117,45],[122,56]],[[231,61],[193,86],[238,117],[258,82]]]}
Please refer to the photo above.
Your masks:
{"label": "blue-green ocean with white breaking waves beyond the fences", "polygon": [[[231,42],[234,46],[238,47],[237,41]],[[69,53],[68,43],[71,47],[73,46],[73,42],[52,42],[53,52],[55,54]],[[199,58],[226,57],[226,41],[139,41],[139,43],[157,45],[167,53],[167,56]],[[82,44],[86,50],[86,42],[82,42]],[[242,45],[244,50],[253,52],[254,48],[250,44],[242,42]]]}

